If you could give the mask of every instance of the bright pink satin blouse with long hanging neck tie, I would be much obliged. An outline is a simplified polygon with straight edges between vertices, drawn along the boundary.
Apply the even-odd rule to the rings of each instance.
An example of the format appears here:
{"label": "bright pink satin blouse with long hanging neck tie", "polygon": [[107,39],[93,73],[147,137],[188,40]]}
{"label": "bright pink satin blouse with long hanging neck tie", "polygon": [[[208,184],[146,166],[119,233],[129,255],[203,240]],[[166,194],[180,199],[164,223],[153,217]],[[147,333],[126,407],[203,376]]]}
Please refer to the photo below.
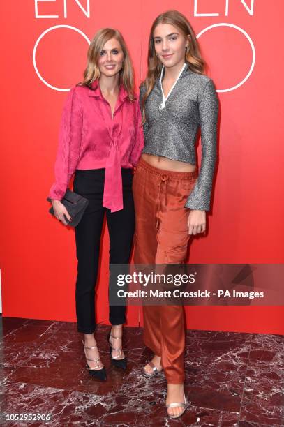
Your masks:
{"label": "bright pink satin blouse with long hanging neck tie", "polygon": [[105,167],[103,206],[115,212],[123,209],[121,167],[135,166],[144,146],[139,98],[130,101],[121,85],[112,119],[98,80],[91,87],[76,86],[68,93],[49,197],[63,198],[76,169]]}

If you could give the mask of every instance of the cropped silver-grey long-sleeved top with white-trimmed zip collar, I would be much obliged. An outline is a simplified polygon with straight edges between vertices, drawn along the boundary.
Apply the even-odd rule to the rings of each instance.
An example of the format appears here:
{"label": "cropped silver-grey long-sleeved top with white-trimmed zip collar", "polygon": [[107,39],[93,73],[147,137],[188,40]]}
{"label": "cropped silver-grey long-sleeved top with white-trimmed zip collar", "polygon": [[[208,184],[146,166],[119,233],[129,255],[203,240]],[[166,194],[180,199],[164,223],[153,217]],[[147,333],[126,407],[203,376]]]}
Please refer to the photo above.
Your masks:
{"label": "cropped silver-grey long-sleeved top with white-trimmed zip collar", "polygon": [[[146,87],[140,86],[140,105]],[[218,98],[213,81],[193,73],[188,66],[181,72],[174,89],[163,103],[160,77],[145,103],[143,153],[181,162],[196,163],[195,142],[201,130],[200,172],[185,207],[209,211],[216,164]]]}

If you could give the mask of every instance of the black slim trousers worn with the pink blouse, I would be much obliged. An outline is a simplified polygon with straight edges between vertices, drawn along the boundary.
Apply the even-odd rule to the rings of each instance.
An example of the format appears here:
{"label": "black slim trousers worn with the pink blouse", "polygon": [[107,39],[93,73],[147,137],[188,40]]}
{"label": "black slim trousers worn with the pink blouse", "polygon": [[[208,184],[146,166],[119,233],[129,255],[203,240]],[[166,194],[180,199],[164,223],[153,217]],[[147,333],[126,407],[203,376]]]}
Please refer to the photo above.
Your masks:
{"label": "black slim trousers worn with the pink blouse", "polygon": [[[132,194],[132,170],[121,168],[124,209],[110,212],[103,207],[105,169],[76,170],[74,191],[86,197],[89,205],[80,223],[75,227],[77,254],[76,314],[77,329],[84,334],[92,334],[96,329],[95,285],[98,276],[100,237],[106,213],[110,234],[110,264],[129,262],[135,213]],[[126,322],[125,306],[110,306],[111,324]]]}

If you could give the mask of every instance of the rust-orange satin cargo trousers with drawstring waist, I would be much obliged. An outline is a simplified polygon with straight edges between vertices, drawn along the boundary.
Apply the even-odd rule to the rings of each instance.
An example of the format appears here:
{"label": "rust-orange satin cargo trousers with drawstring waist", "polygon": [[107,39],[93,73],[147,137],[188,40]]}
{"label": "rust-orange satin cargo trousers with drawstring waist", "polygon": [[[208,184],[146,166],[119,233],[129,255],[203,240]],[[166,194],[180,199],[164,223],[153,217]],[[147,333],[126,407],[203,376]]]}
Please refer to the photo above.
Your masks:
{"label": "rust-orange satin cargo trousers with drawstring waist", "polygon": [[[171,172],[140,159],[133,178],[135,264],[179,264],[188,248],[184,207],[197,179],[194,172]],[[183,306],[143,306],[144,343],[161,357],[169,384],[184,382]]]}

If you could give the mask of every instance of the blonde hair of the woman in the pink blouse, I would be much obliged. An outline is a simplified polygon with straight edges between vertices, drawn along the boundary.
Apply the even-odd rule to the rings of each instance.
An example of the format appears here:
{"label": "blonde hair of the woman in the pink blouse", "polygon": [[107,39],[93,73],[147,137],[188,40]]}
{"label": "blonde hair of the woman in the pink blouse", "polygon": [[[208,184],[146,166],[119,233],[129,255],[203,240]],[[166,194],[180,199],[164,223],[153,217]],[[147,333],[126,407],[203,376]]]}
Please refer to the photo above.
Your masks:
{"label": "blonde hair of the woman in the pink blouse", "polygon": [[120,31],[112,28],[103,28],[97,31],[94,38],[91,40],[87,54],[87,68],[84,70],[84,80],[80,85],[91,87],[94,80],[100,77],[100,70],[98,68],[98,59],[103,46],[111,38],[115,38],[121,45],[122,52],[124,52],[124,64],[119,71],[119,84],[123,84],[128,93],[130,100],[135,100],[134,95],[134,71],[132,61],[126,43]]}

